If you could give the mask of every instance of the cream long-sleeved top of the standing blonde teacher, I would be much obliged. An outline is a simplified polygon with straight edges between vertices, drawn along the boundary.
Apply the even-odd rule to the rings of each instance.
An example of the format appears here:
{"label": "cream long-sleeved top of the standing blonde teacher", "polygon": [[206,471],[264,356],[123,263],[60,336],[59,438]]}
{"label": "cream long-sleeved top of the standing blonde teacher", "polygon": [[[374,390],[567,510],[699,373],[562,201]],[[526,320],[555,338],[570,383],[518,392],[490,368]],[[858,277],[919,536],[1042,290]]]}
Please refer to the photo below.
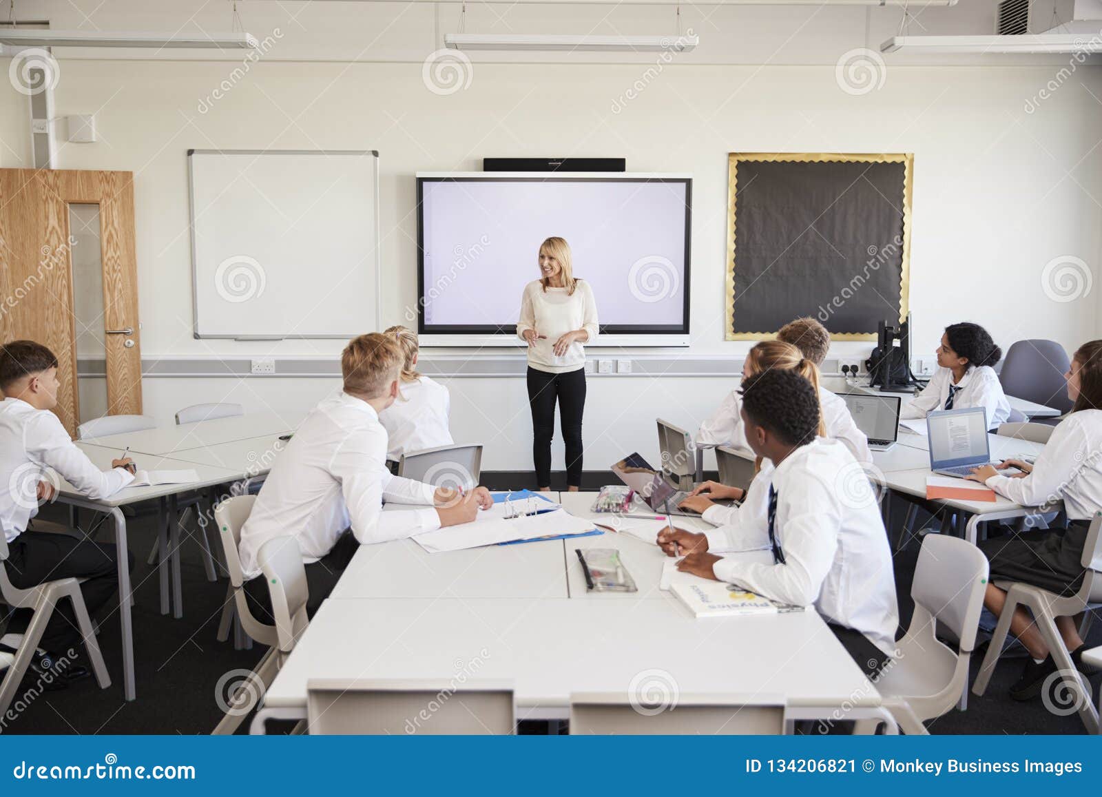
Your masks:
{"label": "cream long-sleeved top of the standing blonde teacher", "polygon": [[574,293],[565,288],[548,288],[539,280],[525,286],[520,299],[520,319],[517,321],[517,337],[525,340],[526,330],[536,330],[539,337],[528,347],[528,365],[548,374],[565,374],[585,367],[585,349],[575,341],[561,357],[554,356],[554,342],[568,332],[585,330],[590,333],[586,345],[597,340],[597,303],[593,289],[585,280],[577,280]]}

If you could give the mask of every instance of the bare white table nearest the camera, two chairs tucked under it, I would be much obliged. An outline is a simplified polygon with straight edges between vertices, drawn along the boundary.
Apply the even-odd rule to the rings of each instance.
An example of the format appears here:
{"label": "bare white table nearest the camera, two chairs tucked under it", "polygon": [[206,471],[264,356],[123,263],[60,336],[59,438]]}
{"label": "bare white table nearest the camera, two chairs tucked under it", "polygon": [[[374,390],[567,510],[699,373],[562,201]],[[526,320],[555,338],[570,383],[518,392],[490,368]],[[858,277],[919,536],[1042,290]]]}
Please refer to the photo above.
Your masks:
{"label": "bare white table nearest the camera, two chairs tucked under it", "polygon": [[[337,599],[322,604],[252,722],[305,714],[322,678],[512,683],[520,720],[563,720],[575,692],[638,697],[640,678],[680,700],[743,692],[788,707],[854,706],[879,694],[814,611],[698,621],[668,601]],[[893,723],[889,723],[889,725]]]}

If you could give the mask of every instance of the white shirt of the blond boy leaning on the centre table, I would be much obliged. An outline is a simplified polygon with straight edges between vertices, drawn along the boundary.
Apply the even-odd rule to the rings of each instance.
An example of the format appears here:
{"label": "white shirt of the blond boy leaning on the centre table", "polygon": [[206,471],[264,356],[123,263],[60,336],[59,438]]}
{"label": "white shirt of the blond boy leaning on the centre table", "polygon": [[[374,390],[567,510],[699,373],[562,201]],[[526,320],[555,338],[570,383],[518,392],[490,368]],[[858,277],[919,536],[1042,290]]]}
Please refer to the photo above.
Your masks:
{"label": "white shirt of the blond boy leaning on the centre table", "polygon": [[[360,543],[411,537],[440,528],[434,488],[387,470],[387,430],[371,405],[344,392],[315,407],[282,454],[241,527],[241,570],[260,574],[257,553],[273,537],[298,538],[305,563],[336,545],[349,526]],[[382,500],[428,504],[382,511]]]}

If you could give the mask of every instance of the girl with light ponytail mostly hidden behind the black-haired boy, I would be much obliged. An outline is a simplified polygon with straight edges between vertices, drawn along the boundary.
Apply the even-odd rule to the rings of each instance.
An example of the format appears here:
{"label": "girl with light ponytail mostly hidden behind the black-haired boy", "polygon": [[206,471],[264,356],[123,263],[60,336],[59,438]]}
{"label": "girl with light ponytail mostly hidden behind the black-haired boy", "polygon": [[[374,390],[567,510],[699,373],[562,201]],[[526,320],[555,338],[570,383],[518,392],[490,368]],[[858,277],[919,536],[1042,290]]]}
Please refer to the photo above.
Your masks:
{"label": "girl with light ponytail mostly hidden behind the black-haired boy", "polygon": [[[823,422],[823,411],[822,411],[822,390],[819,388],[819,368],[810,359],[803,356],[803,353],[799,348],[793,346],[791,343],[785,343],[784,341],[761,341],[749,351],[746,355],[746,359],[743,363],[743,381],[749,380],[752,377],[758,374],[764,374],[767,370],[792,370],[802,376],[811,386],[815,389],[815,394],[819,398],[819,431],[817,432],[819,437],[828,437],[829,432],[827,424]],[[736,390],[731,394],[727,402],[733,402],[733,406],[727,407],[727,412],[724,414],[724,433],[728,435],[728,439],[744,441],[744,445],[739,448],[748,448],[745,443],[746,441],[746,430],[744,428],[742,418],[742,396],[741,391]],[[843,407],[845,405],[843,403]],[[855,426],[853,426],[853,419],[850,418],[850,413],[845,413],[845,418],[849,420],[849,426],[853,427],[853,432],[860,435],[861,442],[865,450],[867,451],[867,441],[865,435],[862,434]],[[844,428],[844,424],[840,424],[843,432],[849,431]],[[853,450],[854,440],[846,439],[846,437],[840,435],[840,440],[846,444],[846,448]],[[760,463],[758,463],[760,465]],[[742,500],[745,496],[746,491],[741,487],[731,487],[725,484],[720,484],[719,482],[704,482],[696,486],[695,489],[681,502],[681,509],[689,509],[690,511],[702,513],[705,520],[714,526],[722,526],[724,524],[731,523],[731,518],[734,513],[738,511],[738,507],[727,507],[719,506],[713,503],[714,499],[722,498],[733,498],[734,500]]]}

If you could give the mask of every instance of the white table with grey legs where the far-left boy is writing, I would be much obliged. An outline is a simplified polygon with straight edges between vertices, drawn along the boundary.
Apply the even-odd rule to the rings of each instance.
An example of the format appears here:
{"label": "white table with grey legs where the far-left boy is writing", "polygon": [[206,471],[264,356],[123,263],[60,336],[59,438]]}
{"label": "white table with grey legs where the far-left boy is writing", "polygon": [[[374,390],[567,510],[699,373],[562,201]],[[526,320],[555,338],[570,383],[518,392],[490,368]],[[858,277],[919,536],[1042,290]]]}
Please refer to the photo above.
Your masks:
{"label": "white table with grey legs where the far-left boy is writing", "polygon": [[[97,467],[104,471],[109,470],[111,467],[111,460],[119,455],[119,452],[114,449],[86,445],[84,443],[77,443],[77,445],[88,455]],[[161,468],[176,471],[194,468],[198,475],[198,481],[188,484],[162,484],[151,487],[127,487],[109,498],[91,499],[86,498],[77,492],[72,484],[62,480],[57,493],[57,500],[60,503],[104,513],[109,515],[115,524],[115,545],[117,547],[119,560],[119,626],[122,633],[122,694],[126,700],[133,700],[137,697],[137,689],[134,687],[133,628],[130,618],[130,610],[133,605],[133,593],[130,586],[130,569],[127,567],[129,562],[127,520],[126,516],[122,514],[121,507],[128,504],[137,504],[142,500],[162,499],[158,534],[161,539],[161,608],[162,613],[164,613],[168,611],[164,602],[166,601],[169,594],[169,563],[166,559],[169,551],[169,514],[165,511],[164,499],[171,500],[179,493],[223,484],[227,481],[233,481],[234,478],[234,474],[231,472],[222,467],[212,465],[195,465],[193,463],[162,456],[145,455],[142,456],[141,461],[137,464],[142,470]],[[177,585],[180,583],[179,562],[179,557],[174,558],[172,561],[172,567],[176,569]],[[180,605],[179,602],[177,605]]]}

